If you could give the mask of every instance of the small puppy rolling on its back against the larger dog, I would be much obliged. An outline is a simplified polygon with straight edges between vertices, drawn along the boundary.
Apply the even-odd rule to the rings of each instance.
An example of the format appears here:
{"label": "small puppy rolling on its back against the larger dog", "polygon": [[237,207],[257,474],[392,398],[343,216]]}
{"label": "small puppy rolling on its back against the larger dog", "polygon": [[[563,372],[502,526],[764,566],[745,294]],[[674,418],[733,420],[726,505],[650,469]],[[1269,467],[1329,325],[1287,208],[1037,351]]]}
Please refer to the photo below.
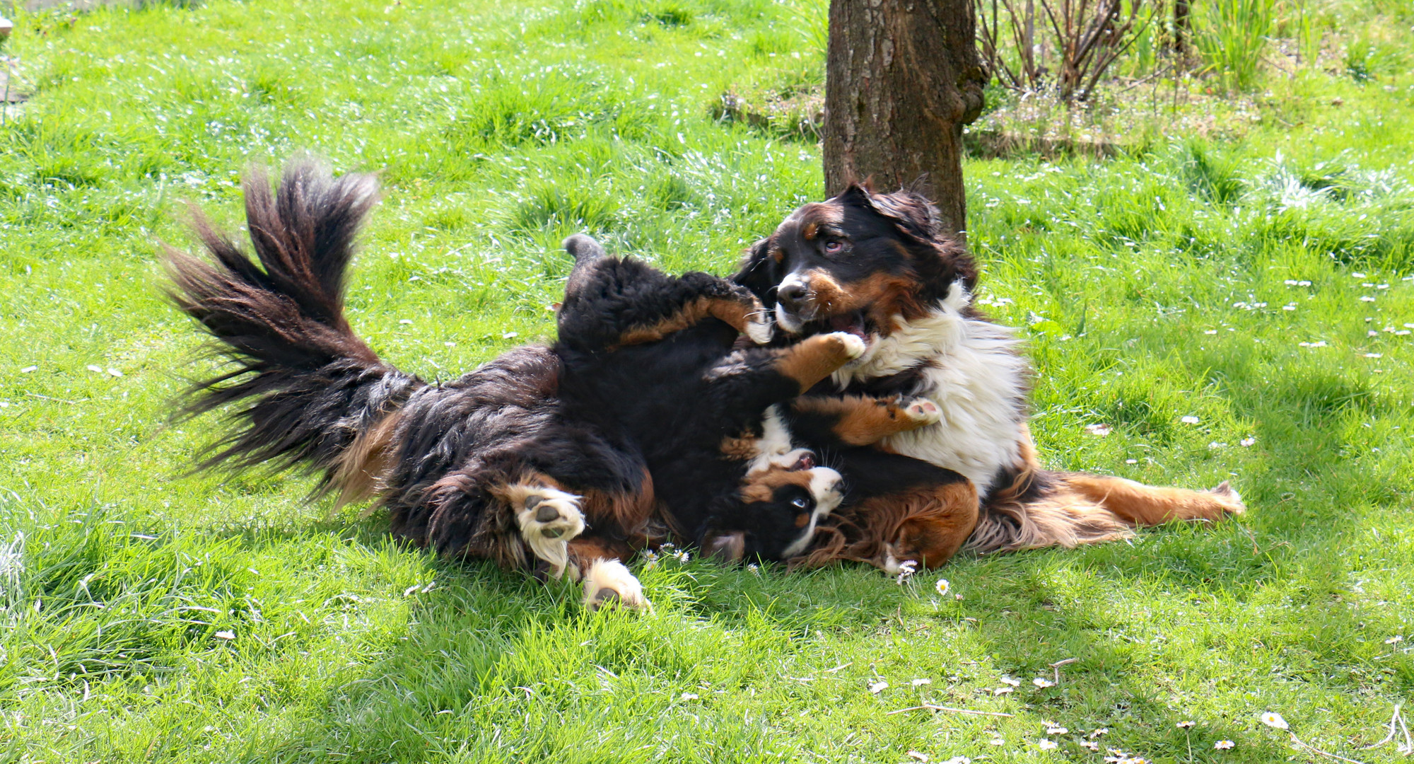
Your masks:
{"label": "small puppy rolling on its back against the larger dog", "polygon": [[575,265],[559,314],[561,403],[595,430],[636,444],[674,538],[732,560],[788,560],[805,552],[817,522],[844,498],[840,471],[895,460],[915,463],[919,473],[901,485],[848,480],[853,502],[918,484],[963,482],[872,451],[860,464],[833,458],[836,471],[796,444],[788,422],[839,454],[937,420],[926,400],[795,400],[853,359],[858,338],[822,334],[789,348],[735,349],[730,324],[699,318],[713,304],[704,294],[728,282],[666,276],[641,260],[607,256],[583,235],[567,239],[566,249]]}

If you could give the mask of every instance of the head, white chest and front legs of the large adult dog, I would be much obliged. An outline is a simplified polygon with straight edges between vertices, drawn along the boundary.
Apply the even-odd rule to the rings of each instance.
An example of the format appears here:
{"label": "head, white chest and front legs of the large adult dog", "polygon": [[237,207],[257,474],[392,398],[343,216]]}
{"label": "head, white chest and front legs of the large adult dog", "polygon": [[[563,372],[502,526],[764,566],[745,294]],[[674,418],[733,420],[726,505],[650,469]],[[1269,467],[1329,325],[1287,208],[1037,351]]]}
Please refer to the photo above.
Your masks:
{"label": "head, white chest and front legs of the large adult dog", "polygon": [[813,563],[846,556],[896,572],[906,562],[942,565],[964,540],[978,552],[1072,548],[1126,538],[1140,525],[1244,511],[1226,481],[1188,491],[1042,468],[1027,429],[1031,368],[1019,341],[971,304],[977,267],[919,194],[854,184],[806,204],[751,246],[732,279],[772,311],[778,344],[822,332],[867,344],[806,400],[932,400],[937,422],[888,436],[881,448],[954,470],[980,498],[980,508],[957,501],[939,511],[932,532],[913,528],[912,536],[888,512],[841,511],[836,521],[848,526],[822,538]]}

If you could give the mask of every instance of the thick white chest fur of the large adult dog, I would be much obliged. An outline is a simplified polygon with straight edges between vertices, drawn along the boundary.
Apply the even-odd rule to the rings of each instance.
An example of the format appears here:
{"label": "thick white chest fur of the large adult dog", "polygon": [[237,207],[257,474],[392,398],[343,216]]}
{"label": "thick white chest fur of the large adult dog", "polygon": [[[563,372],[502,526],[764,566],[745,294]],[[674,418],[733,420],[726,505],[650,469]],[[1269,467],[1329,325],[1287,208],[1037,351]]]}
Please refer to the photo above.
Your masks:
{"label": "thick white chest fur of the large adult dog", "polygon": [[896,453],[960,473],[986,497],[997,473],[1019,458],[1019,426],[1025,420],[1027,359],[1017,352],[1010,327],[966,318],[971,296],[954,283],[926,317],[901,321],[888,337],[872,337],[858,361],[834,372],[844,388],[929,364],[923,389],[942,409],[936,424],[889,436]]}

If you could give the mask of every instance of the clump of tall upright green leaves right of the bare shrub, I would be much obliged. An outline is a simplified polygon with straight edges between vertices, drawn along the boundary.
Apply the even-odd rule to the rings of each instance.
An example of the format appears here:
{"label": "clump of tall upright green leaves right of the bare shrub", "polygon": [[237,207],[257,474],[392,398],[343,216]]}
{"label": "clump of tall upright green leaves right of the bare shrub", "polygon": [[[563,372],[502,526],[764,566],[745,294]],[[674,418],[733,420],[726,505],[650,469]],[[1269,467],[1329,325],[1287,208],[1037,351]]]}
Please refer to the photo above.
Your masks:
{"label": "clump of tall upright green leaves right of the bare shrub", "polygon": [[1275,0],[1209,0],[1198,4],[1195,16],[1193,47],[1205,71],[1229,91],[1251,89],[1275,27]]}

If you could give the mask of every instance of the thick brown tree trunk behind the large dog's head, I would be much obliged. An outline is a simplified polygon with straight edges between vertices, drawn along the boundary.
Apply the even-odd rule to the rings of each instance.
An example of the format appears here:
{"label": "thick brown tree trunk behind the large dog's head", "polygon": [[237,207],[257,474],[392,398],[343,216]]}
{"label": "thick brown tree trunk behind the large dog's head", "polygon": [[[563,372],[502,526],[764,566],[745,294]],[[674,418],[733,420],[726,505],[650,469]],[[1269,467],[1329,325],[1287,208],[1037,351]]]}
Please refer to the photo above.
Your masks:
{"label": "thick brown tree trunk behind the large dog's head", "polygon": [[971,0],[830,0],[824,187],[872,178],[880,191],[922,180],[943,228],[963,233],[963,125],[987,74]]}

